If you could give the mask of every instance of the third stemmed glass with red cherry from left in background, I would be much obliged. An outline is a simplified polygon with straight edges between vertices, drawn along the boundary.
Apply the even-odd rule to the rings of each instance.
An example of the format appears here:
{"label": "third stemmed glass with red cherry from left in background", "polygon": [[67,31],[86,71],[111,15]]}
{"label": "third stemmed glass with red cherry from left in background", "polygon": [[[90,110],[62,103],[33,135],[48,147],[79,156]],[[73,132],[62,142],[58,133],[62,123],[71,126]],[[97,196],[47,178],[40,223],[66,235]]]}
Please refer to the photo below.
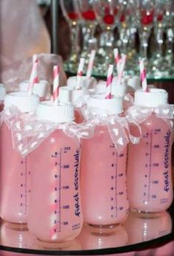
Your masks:
{"label": "third stemmed glass with red cherry from left in background", "polygon": [[102,28],[100,49],[97,54],[99,72],[105,72],[108,65],[114,62],[114,27],[118,19],[119,5],[117,0],[95,0],[94,10]]}

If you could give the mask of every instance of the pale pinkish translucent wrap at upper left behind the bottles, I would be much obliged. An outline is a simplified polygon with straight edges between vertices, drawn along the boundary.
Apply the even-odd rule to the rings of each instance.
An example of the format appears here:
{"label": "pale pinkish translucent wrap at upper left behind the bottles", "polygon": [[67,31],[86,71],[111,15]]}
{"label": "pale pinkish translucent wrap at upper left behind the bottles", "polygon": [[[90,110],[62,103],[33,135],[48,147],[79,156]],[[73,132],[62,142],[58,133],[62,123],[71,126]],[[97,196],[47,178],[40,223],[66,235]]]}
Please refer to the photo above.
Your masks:
{"label": "pale pinkish translucent wrap at upper left behind the bottles", "polygon": [[1,0],[1,82],[7,91],[17,91],[28,80],[32,55],[38,55],[38,78],[52,83],[52,66],[60,66],[60,85],[66,83],[62,58],[51,55],[49,32],[36,1]]}

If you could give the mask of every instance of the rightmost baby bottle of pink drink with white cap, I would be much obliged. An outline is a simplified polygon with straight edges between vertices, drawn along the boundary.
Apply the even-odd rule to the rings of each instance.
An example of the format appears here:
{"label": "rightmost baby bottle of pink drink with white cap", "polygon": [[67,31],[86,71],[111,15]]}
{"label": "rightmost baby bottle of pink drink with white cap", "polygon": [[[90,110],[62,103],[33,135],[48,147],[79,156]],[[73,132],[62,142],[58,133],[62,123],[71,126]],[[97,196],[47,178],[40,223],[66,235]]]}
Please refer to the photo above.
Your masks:
{"label": "rightmost baby bottle of pink drink with white cap", "polygon": [[[164,211],[173,201],[173,128],[165,118],[168,109],[160,116],[167,106],[167,96],[162,89],[139,89],[134,106],[128,111],[136,120],[142,119],[142,139],[137,145],[130,144],[128,150],[128,198],[130,208],[136,211]],[[136,133],[133,129],[132,133]]]}

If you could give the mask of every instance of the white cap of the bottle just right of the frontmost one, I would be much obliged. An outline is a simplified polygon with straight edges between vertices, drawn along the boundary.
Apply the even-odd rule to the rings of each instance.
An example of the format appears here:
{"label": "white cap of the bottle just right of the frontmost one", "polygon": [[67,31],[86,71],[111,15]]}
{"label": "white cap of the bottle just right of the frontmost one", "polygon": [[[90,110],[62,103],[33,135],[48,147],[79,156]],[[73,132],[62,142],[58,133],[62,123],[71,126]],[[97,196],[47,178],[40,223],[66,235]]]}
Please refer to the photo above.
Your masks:
{"label": "white cap of the bottle just right of the frontmost one", "polygon": [[98,108],[99,113],[103,113],[106,110],[109,114],[122,113],[122,97],[114,97],[112,99],[105,99],[104,95],[94,95],[88,98],[88,107]]}

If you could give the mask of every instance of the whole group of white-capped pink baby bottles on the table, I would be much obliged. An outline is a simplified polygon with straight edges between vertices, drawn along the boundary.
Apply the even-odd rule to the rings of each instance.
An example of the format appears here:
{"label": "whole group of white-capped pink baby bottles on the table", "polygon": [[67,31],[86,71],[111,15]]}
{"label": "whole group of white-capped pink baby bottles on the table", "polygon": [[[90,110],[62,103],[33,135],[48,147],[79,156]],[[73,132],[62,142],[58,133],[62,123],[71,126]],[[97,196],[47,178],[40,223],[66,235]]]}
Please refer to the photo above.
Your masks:
{"label": "whole group of white-capped pink baby bottles on the table", "polygon": [[[173,126],[167,119],[167,91],[137,89],[133,106],[123,110],[120,95],[105,99],[95,89],[88,90],[94,80],[87,82],[84,79],[86,88],[80,90],[60,87],[59,105],[46,100],[46,94],[29,96],[25,89],[4,97],[0,215],[4,221],[27,224],[41,241],[68,241],[80,234],[83,222],[110,227],[123,223],[129,210],[161,212],[173,201]],[[80,111],[84,97],[85,117]],[[35,112],[35,122],[57,125],[25,156],[13,145],[14,113],[10,122],[3,114],[14,106],[28,115],[28,122]],[[77,140],[59,126],[74,120],[82,130],[91,125],[93,135],[84,138],[84,130]],[[39,129],[38,125],[28,139],[41,135]],[[141,139],[133,142],[139,133]]]}

